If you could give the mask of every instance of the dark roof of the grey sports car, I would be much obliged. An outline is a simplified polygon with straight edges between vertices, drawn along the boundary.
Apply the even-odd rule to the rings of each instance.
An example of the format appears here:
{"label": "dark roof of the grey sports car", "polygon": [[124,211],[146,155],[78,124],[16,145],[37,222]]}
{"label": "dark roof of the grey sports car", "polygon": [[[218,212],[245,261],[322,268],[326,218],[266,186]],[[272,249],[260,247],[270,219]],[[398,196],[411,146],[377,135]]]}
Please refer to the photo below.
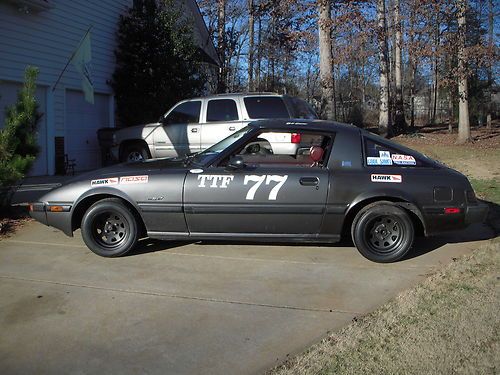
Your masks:
{"label": "dark roof of the grey sports car", "polygon": [[269,119],[256,120],[249,123],[249,126],[260,129],[290,129],[290,130],[312,130],[312,131],[327,131],[327,132],[359,132],[360,129],[354,125],[344,124],[335,121],[326,120],[307,120],[307,119]]}

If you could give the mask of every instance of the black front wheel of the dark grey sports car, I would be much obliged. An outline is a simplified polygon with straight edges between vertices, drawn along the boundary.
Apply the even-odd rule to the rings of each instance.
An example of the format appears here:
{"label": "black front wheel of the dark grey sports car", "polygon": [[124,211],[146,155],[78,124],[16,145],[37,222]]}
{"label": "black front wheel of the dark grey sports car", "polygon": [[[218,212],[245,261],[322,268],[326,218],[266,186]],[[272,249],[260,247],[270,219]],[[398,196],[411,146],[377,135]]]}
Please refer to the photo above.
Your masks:
{"label": "black front wheel of the dark grey sports car", "polygon": [[124,255],[134,248],[139,237],[134,214],[117,198],[90,206],[83,215],[81,229],[87,247],[103,257]]}

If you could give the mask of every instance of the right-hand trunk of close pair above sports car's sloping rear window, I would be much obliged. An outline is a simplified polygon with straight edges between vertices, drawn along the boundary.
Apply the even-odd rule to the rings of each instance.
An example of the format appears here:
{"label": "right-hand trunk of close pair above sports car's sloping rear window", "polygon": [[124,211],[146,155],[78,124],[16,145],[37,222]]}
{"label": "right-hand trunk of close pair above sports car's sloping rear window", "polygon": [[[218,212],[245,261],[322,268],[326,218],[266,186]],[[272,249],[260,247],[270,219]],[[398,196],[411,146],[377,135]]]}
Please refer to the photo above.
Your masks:
{"label": "right-hand trunk of close pair above sports car's sloping rear window", "polygon": [[401,30],[401,17],[400,17],[400,0],[394,1],[394,28],[396,33],[395,38],[395,57],[394,57],[394,75],[396,81],[396,115],[395,127],[397,133],[404,133],[406,131],[406,120],[403,103],[403,72],[401,66],[401,55],[403,47],[403,37]]}

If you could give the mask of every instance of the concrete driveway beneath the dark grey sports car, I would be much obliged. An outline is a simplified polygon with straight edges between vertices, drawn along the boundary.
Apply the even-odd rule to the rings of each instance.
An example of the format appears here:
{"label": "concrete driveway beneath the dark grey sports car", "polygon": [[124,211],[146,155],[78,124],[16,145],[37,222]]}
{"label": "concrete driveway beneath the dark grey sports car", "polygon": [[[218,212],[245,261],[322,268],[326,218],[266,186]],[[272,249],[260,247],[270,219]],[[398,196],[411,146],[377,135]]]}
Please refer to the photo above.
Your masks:
{"label": "concrete driveway beneath the dark grey sports car", "polygon": [[262,373],[492,236],[419,240],[389,265],[351,245],[145,241],[105,259],[30,222],[0,241],[0,373]]}

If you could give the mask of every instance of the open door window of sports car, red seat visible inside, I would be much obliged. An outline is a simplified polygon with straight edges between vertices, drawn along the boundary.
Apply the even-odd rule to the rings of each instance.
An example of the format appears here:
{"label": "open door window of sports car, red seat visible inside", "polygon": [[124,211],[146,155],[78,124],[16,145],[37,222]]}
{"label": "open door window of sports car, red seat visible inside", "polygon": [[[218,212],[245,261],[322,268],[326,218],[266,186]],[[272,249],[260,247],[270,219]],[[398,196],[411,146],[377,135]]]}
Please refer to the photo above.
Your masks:
{"label": "open door window of sports car, red seat visible inside", "polygon": [[327,164],[332,143],[331,135],[266,132],[248,141],[232,156],[251,167],[322,168]]}

